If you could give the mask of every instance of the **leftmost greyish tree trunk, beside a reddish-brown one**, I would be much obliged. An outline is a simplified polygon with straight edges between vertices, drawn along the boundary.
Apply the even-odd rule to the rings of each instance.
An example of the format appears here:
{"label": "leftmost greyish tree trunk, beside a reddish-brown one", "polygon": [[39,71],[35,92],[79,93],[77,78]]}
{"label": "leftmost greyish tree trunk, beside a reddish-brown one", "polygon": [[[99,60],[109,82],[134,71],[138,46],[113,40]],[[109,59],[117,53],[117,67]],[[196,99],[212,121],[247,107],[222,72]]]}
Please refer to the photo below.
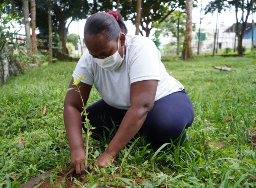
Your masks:
{"label": "leftmost greyish tree trunk, beside a reddish-brown one", "polygon": [[26,32],[26,44],[27,44],[27,56],[30,57],[30,46],[31,46],[31,38],[30,38],[30,24],[29,24],[29,6],[28,0],[22,1],[23,7],[23,17],[24,17],[24,25],[25,25],[25,32]]}

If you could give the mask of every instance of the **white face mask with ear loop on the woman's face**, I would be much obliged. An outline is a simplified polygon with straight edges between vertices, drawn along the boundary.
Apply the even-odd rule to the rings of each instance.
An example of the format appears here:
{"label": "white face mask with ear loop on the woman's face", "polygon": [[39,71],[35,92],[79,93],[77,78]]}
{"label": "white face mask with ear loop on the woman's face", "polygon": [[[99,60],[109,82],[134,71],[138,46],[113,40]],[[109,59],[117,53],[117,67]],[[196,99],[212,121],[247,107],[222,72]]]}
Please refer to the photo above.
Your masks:
{"label": "white face mask with ear loop on the woman's face", "polygon": [[112,71],[112,70],[116,70],[119,68],[119,66],[122,64],[123,59],[124,59],[124,48],[123,48],[123,58],[120,56],[118,50],[119,50],[119,36],[118,35],[118,46],[117,46],[117,51],[109,56],[106,57],[104,59],[98,59],[98,58],[93,58],[94,61],[100,65],[103,69],[107,70],[107,71]]}

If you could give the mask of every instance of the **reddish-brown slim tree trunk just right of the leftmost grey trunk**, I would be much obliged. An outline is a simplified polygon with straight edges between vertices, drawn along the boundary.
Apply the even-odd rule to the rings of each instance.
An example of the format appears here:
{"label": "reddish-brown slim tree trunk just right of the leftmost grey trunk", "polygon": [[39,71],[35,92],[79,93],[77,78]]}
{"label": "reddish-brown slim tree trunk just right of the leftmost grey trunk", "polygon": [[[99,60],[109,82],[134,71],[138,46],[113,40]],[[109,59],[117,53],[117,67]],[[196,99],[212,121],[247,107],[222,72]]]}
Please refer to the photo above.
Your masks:
{"label": "reddish-brown slim tree trunk just right of the leftmost grey trunk", "polygon": [[[30,13],[31,13],[31,30],[32,30],[32,52],[37,54],[37,35],[36,35],[36,2],[30,1]],[[34,63],[39,66],[38,59],[33,59]]]}

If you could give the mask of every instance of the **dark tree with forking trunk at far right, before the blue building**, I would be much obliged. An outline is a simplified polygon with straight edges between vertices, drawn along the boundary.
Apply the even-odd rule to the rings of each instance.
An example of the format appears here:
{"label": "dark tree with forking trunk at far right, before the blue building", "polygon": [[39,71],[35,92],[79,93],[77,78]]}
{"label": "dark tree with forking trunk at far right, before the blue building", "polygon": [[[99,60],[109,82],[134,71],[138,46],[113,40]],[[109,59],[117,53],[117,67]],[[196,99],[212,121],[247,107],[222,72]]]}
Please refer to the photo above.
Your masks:
{"label": "dark tree with forking trunk at far right, before the blue building", "polygon": [[[250,15],[253,3],[255,0],[220,0],[220,3],[218,3],[219,0],[213,0],[208,3],[208,5],[205,8],[205,13],[208,12],[214,12],[219,8],[219,10],[226,10],[235,8],[235,14],[236,14],[236,36],[238,40],[237,44],[237,55],[242,56],[243,55],[243,48],[242,48],[242,41],[247,25],[247,20]],[[241,18],[238,18],[238,11],[241,11]]]}

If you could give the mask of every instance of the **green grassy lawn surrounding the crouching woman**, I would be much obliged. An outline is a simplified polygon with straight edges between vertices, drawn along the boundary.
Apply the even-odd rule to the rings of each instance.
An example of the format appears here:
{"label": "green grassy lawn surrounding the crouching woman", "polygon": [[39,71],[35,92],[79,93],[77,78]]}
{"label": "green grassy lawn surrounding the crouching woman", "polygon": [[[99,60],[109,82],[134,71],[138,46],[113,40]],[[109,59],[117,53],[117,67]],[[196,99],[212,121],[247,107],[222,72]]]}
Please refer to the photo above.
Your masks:
{"label": "green grassy lawn surrounding the crouching woman", "polygon": [[[256,127],[255,57],[169,58],[167,71],[185,86],[195,109],[184,144],[154,151],[141,136],[116,156],[120,168],[96,169],[95,175],[78,179],[77,186],[255,187],[256,149],[247,134]],[[231,72],[212,68],[225,64]],[[52,169],[55,179],[62,169],[71,169],[62,113],[75,65],[42,66],[0,87],[0,187],[17,187]],[[87,106],[98,99],[93,88]],[[234,118],[225,121],[228,116]],[[216,147],[218,141],[225,146]],[[106,147],[92,139],[90,146],[91,159]]]}

